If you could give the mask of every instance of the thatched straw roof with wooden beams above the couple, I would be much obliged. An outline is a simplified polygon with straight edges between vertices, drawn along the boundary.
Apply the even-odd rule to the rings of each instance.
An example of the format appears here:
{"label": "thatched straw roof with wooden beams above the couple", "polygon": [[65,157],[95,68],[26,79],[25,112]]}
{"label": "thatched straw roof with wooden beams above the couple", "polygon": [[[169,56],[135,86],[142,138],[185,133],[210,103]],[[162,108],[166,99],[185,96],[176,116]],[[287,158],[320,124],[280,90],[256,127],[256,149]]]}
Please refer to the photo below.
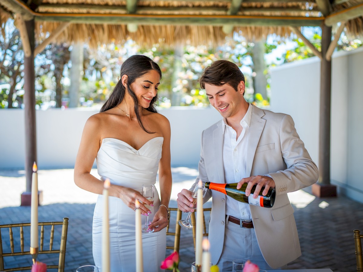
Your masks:
{"label": "thatched straw roof with wooden beams above the couple", "polygon": [[334,27],[342,16],[349,19],[346,33],[359,37],[363,36],[362,16],[344,12],[360,12],[362,7],[363,0],[333,4],[328,0],[1,0],[0,20],[19,12],[25,20],[34,18],[38,41],[60,24],[71,22],[57,36],[58,42],[85,41],[96,46],[131,38],[147,45],[208,45],[223,42],[233,32],[249,40],[273,33],[284,38],[291,34],[289,26],[320,26],[329,18]]}

